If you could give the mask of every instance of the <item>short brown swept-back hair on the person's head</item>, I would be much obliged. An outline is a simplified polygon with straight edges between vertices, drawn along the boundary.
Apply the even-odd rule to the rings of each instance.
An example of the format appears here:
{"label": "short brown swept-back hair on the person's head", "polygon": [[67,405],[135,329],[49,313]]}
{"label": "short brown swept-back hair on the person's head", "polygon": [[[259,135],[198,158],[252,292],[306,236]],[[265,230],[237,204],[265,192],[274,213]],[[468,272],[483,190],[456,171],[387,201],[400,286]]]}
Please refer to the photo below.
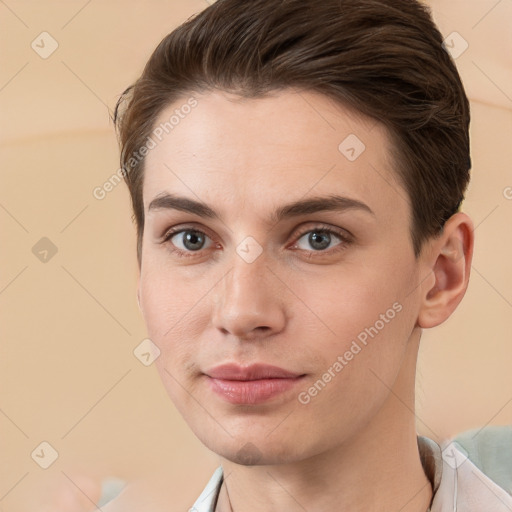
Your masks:
{"label": "short brown swept-back hair on the person's head", "polygon": [[144,159],[160,112],[193,91],[297,87],[383,123],[412,205],[416,257],[469,182],[469,102],[428,7],[416,0],[217,0],[168,34],[119,98],[114,124],[142,254]]}

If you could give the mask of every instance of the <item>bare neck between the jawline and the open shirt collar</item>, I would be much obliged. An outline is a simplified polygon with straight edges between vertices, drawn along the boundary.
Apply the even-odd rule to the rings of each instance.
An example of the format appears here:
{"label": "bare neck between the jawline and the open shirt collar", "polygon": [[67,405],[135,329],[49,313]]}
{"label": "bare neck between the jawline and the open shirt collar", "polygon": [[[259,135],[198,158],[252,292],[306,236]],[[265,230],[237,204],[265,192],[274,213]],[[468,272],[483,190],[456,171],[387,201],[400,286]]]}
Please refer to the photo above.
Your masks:
{"label": "bare neck between the jawline and the open shirt collar", "polygon": [[420,336],[415,329],[386,401],[357,435],[293,464],[242,466],[223,458],[216,512],[426,512],[432,486],[414,415]]}

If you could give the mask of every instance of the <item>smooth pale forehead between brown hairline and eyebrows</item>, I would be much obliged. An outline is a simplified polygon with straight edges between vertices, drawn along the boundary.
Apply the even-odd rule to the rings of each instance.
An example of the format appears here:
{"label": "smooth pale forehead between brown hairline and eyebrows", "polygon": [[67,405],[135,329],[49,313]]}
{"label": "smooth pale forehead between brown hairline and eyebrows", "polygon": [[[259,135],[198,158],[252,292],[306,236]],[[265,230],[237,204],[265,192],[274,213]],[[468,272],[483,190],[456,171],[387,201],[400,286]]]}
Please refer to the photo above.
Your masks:
{"label": "smooth pale forehead between brown hairline and eyebrows", "polygon": [[382,214],[398,202],[408,208],[384,126],[318,93],[191,94],[160,113],[151,137],[146,209],[163,191],[219,208],[251,205],[255,213],[308,191],[359,199]]}

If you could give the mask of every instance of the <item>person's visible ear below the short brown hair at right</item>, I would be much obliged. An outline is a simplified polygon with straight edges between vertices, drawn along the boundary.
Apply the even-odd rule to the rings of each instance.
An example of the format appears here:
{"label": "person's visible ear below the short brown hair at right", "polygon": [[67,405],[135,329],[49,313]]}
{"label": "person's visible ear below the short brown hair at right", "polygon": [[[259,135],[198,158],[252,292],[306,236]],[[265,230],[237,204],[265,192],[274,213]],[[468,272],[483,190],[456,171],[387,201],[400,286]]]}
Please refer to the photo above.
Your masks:
{"label": "person's visible ear below the short brown hair at right", "polygon": [[425,329],[443,323],[464,297],[474,247],[473,222],[465,213],[452,215],[428,251],[430,276],[423,281],[418,325]]}

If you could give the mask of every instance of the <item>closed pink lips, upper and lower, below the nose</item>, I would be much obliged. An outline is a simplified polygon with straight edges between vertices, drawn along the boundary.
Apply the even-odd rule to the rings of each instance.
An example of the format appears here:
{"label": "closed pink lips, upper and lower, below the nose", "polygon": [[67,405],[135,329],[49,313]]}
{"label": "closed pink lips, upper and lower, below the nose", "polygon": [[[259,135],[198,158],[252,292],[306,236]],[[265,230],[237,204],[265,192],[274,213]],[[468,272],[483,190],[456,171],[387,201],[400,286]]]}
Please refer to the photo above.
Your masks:
{"label": "closed pink lips, upper and lower, below the nose", "polygon": [[291,391],[305,377],[267,364],[224,364],[205,372],[210,389],[236,405],[256,405]]}

